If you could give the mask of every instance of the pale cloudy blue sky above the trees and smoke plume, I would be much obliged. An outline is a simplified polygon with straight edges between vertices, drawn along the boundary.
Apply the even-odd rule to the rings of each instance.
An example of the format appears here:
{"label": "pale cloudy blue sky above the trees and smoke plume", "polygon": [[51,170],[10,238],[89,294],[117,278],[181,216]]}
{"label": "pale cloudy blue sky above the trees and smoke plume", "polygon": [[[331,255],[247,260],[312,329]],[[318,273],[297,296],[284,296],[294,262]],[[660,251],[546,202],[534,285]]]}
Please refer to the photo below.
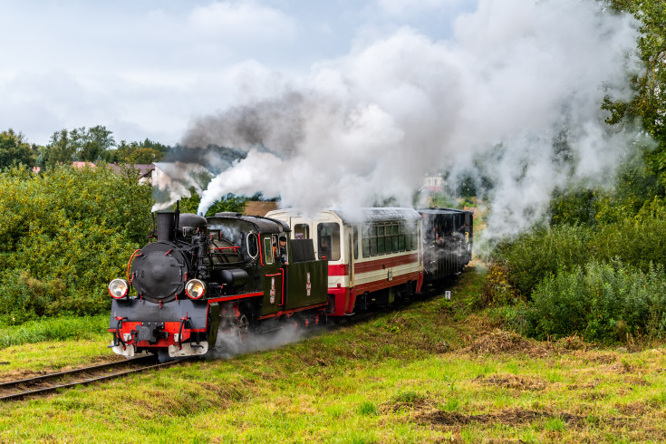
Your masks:
{"label": "pale cloudy blue sky above the trees and smoke plume", "polygon": [[0,129],[104,125],[178,143],[191,121],[302,82],[403,26],[446,38],[465,0],[0,2]]}

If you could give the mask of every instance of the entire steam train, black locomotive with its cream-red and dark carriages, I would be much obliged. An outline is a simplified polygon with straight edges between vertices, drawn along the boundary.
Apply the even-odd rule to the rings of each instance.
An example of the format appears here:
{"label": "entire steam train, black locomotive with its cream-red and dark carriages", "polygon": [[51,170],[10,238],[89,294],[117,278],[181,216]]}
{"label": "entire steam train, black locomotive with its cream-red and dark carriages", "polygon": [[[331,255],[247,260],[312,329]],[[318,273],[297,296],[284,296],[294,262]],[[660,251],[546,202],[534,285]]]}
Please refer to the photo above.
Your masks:
{"label": "entire steam train, black locomotive with its cream-red and dark carriages", "polygon": [[157,240],[135,251],[126,278],[109,285],[111,348],[127,357],[204,355],[218,332],[243,342],[250,332],[390,305],[462,270],[471,220],[447,208],[159,212]]}

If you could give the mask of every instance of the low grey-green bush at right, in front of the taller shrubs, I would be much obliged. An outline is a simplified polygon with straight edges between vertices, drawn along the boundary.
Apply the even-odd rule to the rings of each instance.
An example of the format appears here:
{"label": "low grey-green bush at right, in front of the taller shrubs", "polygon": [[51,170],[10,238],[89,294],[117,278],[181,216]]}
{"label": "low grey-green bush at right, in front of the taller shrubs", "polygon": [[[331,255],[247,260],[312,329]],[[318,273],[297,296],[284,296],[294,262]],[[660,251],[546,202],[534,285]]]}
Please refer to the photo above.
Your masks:
{"label": "low grey-green bush at right, in front of the taller shrubs", "polygon": [[579,334],[612,343],[666,333],[666,275],[661,265],[643,273],[622,263],[591,262],[561,269],[536,287],[526,333],[540,339]]}

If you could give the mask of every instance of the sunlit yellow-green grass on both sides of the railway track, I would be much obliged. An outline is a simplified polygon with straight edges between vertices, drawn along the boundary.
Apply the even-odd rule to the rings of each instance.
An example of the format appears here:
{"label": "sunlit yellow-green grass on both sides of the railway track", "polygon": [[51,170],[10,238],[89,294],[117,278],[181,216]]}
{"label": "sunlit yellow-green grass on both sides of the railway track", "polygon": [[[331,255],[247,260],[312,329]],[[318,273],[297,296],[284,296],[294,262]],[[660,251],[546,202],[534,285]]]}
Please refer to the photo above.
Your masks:
{"label": "sunlit yellow-green grass on both sides of the railway track", "polygon": [[[503,332],[478,311],[484,279],[279,349],[0,404],[0,441],[666,441],[666,347]],[[0,379],[108,360],[109,339],[7,347]]]}

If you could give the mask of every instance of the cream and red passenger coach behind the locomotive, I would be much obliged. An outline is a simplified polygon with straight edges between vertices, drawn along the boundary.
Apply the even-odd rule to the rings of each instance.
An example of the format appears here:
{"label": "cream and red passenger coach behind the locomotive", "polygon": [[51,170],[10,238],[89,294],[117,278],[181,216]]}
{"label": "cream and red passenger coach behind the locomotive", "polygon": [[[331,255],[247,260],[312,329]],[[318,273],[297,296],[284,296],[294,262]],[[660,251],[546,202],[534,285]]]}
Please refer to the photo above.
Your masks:
{"label": "cream and red passenger coach behind the locomotive", "polygon": [[344,316],[389,305],[420,292],[423,283],[421,216],[411,208],[362,208],[358,214],[324,209],[271,211],[292,239],[313,239],[328,260],[328,314]]}

